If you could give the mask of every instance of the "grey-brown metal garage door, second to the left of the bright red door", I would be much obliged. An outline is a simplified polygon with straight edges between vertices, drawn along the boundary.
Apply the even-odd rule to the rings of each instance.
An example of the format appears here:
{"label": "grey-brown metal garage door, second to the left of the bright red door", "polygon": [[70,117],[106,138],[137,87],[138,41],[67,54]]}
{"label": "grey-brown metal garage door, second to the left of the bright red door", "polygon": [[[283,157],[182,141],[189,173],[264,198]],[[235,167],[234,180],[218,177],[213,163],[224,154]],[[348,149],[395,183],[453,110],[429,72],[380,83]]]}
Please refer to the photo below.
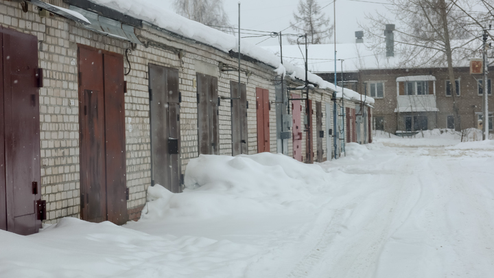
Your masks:
{"label": "grey-brown metal garage door, second to the left of the bright red door", "polygon": [[217,78],[197,74],[199,154],[220,154]]}

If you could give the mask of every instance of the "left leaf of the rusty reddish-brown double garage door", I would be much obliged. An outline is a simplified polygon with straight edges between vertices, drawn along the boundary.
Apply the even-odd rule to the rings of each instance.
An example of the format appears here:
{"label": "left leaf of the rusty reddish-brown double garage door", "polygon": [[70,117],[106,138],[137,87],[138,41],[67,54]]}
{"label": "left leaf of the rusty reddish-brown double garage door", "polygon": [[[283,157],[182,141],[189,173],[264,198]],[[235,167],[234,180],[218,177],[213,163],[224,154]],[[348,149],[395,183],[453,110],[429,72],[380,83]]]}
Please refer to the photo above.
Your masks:
{"label": "left leaf of the rusty reddish-brown double garage door", "polygon": [[79,47],[81,218],[106,220],[103,54]]}

